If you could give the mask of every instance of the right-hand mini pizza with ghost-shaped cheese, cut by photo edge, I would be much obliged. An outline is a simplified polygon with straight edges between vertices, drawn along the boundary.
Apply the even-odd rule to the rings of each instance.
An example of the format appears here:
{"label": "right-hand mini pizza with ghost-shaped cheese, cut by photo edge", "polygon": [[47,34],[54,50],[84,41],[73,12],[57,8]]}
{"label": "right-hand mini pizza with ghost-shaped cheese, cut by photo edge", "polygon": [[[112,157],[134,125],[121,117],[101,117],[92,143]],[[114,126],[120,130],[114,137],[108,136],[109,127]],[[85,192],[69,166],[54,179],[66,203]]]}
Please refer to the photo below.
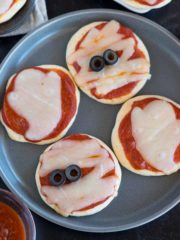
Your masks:
{"label": "right-hand mini pizza with ghost-shaped cheese, cut by photo edge", "polygon": [[161,96],[139,96],[120,109],[112,133],[120,163],[147,176],[180,168],[180,105]]}

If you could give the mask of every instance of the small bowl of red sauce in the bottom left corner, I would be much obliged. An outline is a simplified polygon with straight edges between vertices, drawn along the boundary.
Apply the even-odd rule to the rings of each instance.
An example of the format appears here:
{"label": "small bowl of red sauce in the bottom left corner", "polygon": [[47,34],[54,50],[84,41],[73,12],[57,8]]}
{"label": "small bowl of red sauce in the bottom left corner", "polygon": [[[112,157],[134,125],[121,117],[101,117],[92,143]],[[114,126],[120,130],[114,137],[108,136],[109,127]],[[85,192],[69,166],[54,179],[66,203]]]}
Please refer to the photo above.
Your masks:
{"label": "small bowl of red sauce in the bottom left corner", "polygon": [[0,240],[35,240],[29,209],[11,192],[0,189]]}

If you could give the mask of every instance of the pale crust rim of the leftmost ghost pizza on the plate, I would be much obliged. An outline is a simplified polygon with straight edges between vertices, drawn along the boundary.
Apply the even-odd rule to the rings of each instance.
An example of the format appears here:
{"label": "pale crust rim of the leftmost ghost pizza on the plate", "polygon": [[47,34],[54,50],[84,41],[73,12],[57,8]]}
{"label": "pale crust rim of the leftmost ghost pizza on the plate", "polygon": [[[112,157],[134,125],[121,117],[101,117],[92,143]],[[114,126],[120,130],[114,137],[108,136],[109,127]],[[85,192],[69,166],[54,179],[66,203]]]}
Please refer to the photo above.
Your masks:
{"label": "pale crust rim of the leftmost ghost pizza on the plate", "polygon": [[[57,66],[57,65],[41,65],[41,66],[38,66],[38,67],[41,67],[41,68],[45,68],[45,69],[59,69],[63,72],[65,72],[71,79],[72,79],[72,82],[74,83],[73,81],[73,78],[72,76],[70,75],[70,73],[63,67],[60,67],[60,66]],[[13,77],[15,76],[12,75],[10,77],[10,79],[8,80],[8,83],[7,83],[7,86],[6,86],[6,89],[8,88],[9,84],[11,83]],[[78,112],[78,106],[79,106],[79,102],[80,102],[80,94],[79,94],[79,91],[78,91],[78,88],[76,87],[75,83],[74,83],[74,86],[75,86],[75,94],[76,94],[76,100],[77,100],[77,108],[76,108],[76,113],[74,115],[74,117],[71,119],[71,121],[69,122],[68,126],[58,135],[56,136],[55,138],[51,138],[51,139],[47,139],[47,140],[42,140],[42,141],[39,141],[39,142],[31,142],[31,141],[27,141],[23,135],[21,134],[18,134],[16,133],[15,131],[13,131],[12,129],[10,129],[6,123],[3,121],[3,118],[2,118],[2,113],[0,112],[0,122],[3,124],[3,126],[5,127],[9,137],[14,140],[14,141],[17,141],[17,142],[30,142],[30,143],[34,143],[34,144],[38,144],[38,145],[44,145],[44,144],[49,144],[49,143],[52,143],[52,142],[55,142],[57,140],[59,140],[60,138],[62,138],[66,133],[67,131],[69,130],[69,128],[71,127],[71,125],[73,124],[75,118],[76,118],[76,115],[77,115],[77,112]]]}

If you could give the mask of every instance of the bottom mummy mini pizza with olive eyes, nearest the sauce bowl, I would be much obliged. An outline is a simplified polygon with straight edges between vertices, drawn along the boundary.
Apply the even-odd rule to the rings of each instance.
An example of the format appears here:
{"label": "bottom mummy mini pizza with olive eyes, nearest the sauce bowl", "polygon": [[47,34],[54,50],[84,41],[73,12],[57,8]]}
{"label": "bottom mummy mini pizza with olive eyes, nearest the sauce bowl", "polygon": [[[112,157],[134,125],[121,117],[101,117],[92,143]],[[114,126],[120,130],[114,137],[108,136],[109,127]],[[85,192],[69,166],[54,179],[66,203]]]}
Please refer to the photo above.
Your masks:
{"label": "bottom mummy mini pizza with olive eyes, nearest the sauce bowl", "polygon": [[36,170],[41,198],[65,217],[101,211],[117,196],[120,181],[121,169],[113,152],[85,134],[48,147]]}

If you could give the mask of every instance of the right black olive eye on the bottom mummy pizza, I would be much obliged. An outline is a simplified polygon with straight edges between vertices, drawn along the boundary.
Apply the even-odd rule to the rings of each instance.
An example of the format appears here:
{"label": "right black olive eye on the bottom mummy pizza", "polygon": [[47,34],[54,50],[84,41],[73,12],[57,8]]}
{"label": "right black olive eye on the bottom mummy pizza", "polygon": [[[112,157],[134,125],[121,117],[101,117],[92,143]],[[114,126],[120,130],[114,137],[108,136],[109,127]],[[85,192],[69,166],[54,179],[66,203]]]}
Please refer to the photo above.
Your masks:
{"label": "right black olive eye on the bottom mummy pizza", "polygon": [[65,175],[70,182],[75,182],[79,180],[82,175],[81,168],[77,165],[70,165],[66,168]]}

